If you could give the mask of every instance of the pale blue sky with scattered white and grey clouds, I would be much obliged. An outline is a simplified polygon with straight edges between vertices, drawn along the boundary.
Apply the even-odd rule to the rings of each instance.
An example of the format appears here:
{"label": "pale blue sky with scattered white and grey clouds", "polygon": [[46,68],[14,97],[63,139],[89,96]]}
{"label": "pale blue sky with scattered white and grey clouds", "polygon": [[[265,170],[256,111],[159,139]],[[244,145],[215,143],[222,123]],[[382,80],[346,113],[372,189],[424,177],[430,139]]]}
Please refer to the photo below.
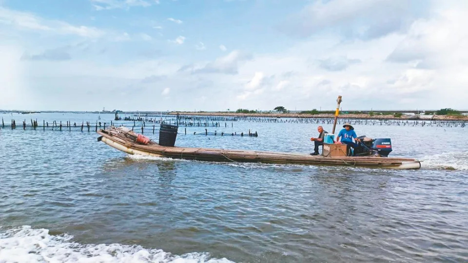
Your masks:
{"label": "pale blue sky with scattered white and grey clouds", "polygon": [[466,0],[0,0],[0,109],[468,109]]}

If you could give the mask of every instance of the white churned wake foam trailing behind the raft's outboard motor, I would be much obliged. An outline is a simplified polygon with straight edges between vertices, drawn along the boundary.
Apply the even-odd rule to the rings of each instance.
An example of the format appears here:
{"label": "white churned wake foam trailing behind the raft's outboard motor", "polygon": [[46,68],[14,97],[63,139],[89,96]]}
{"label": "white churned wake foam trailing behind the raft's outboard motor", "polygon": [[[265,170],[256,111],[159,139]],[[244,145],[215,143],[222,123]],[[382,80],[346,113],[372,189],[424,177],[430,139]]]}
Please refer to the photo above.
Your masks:
{"label": "white churned wake foam trailing behind the raft's outboard motor", "polygon": [[446,152],[425,156],[422,169],[468,170],[468,151]]}

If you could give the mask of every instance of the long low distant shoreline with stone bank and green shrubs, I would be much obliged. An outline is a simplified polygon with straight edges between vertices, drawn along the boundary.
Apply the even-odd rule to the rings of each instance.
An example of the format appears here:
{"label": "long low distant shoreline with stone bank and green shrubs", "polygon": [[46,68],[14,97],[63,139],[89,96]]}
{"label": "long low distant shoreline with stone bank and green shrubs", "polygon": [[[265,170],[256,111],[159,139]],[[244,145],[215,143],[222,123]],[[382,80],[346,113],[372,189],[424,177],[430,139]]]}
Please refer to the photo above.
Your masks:
{"label": "long low distant shoreline with stone bank and green shrubs", "polygon": [[[170,115],[195,115],[195,116],[229,116],[229,117],[271,117],[271,118],[333,118],[334,114],[306,114],[306,113],[226,113],[226,112],[170,112]],[[432,116],[429,118],[429,116]],[[418,118],[419,117],[419,118]],[[349,119],[392,119],[392,120],[445,120],[445,121],[468,121],[468,116],[465,115],[402,115],[394,117],[393,115],[380,114],[340,114],[338,118]]]}

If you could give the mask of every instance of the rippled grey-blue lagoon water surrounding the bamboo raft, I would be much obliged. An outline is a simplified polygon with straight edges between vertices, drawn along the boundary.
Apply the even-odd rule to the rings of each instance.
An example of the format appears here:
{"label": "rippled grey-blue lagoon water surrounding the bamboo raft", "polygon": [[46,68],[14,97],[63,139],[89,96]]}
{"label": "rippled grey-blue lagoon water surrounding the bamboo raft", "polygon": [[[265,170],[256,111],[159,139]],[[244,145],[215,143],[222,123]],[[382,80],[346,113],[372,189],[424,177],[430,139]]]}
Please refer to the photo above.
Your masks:
{"label": "rippled grey-blue lagoon water surrounding the bamboo raft", "polygon": [[[355,126],[390,137],[391,156],[424,161],[383,170],[128,156],[97,142],[94,129],[19,123],[97,114],[0,117],[2,263],[468,261],[467,128]],[[259,136],[188,127],[176,145],[312,152],[317,135],[315,124],[221,123],[209,131]]]}

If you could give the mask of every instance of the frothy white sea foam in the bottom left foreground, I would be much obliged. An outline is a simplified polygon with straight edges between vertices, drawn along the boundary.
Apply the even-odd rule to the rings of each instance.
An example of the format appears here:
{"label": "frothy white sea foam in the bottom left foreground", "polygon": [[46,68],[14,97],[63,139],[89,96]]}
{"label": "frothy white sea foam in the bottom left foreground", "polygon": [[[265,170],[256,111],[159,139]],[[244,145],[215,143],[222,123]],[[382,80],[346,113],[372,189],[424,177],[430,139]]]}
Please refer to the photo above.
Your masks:
{"label": "frothy white sea foam in the bottom left foreground", "polygon": [[[1,230],[1,228],[0,228]],[[228,263],[210,258],[209,253],[173,255],[161,249],[124,244],[79,244],[73,236],[49,235],[47,229],[23,225],[0,231],[0,263]]]}

